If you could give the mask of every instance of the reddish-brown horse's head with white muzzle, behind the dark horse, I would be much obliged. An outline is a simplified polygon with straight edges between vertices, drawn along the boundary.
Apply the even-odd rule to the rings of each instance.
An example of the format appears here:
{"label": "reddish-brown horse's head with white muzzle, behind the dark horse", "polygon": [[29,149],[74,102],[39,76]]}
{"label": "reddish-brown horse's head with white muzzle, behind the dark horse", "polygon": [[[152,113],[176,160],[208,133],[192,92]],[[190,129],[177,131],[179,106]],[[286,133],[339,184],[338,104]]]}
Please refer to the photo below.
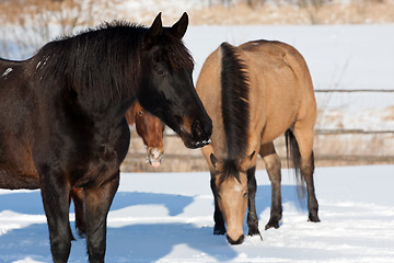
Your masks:
{"label": "reddish-brown horse's head with white muzzle, behind the dark horse", "polygon": [[129,125],[136,124],[137,134],[147,146],[147,160],[152,167],[158,168],[164,156],[164,124],[143,110],[138,102],[126,113],[126,119]]}

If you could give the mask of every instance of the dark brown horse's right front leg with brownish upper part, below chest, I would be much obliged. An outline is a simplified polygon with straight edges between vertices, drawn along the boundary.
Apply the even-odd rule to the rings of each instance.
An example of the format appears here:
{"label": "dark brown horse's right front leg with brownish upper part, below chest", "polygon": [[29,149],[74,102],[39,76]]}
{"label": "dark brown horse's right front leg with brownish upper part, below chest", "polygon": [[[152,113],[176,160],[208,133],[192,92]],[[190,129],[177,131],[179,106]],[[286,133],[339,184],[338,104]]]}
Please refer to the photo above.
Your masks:
{"label": "dark brown horse's right front leg with brownish upper part, below chest", "polygon": [[89,262],[104,262],[107,214],[118,185],[119,171],[104,184],[84,190]]}

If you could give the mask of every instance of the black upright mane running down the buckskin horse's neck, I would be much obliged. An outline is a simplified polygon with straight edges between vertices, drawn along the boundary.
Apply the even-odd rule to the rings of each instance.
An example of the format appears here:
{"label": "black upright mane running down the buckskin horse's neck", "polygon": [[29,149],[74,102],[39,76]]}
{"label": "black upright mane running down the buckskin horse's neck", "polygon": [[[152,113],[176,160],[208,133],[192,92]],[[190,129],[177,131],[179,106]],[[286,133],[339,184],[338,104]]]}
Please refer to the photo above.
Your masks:
{"label": "black upright mane running down the buckskin horse's neck", "polygon": [[[250,123],[248,77],[246,66],[235,47],[221,44],[221,96],[228,158],[223,178],[237,176],[237,160],[245,155]],[[239,180],[239,178],[237,178]]]}

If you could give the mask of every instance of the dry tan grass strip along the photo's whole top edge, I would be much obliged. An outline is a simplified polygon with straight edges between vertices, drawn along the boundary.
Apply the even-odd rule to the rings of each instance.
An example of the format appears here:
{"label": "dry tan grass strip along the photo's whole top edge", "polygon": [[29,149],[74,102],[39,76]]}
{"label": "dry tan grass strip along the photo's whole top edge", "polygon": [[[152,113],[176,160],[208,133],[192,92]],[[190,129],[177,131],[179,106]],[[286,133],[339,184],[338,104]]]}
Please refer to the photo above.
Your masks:
{"label": "dry tan grass strip along the photo's whole top edge", "polygon": [[[293,4],[287,3],[291,1],[278,1],[277,4],[260,1],[253,5],[246,2],[236,1],[230,8],[215,4],[186,11],[193,25],[394,23],[393,0],[354,0],[347,3],[321,1],[323,3],[318,5],[302,4],[308,1],[301,0],[292,1]],[[0,1],[0,10],[5,10],[0,15],[2,21],[23,25],[26,19],[49,11],[51,14],[62,13],[63,22],[69,24],[90,26],[111,18],[150,24],[158,13],[153,7],[147,7],[139,12],[119,10],[116,8],[119,3],[121,0],[8,0]],[[69,10],[73,10],[73,14]],[[169,23],[178,19],[178,13],[163,11]],[[69,13],[68,16],[66,13]]]}

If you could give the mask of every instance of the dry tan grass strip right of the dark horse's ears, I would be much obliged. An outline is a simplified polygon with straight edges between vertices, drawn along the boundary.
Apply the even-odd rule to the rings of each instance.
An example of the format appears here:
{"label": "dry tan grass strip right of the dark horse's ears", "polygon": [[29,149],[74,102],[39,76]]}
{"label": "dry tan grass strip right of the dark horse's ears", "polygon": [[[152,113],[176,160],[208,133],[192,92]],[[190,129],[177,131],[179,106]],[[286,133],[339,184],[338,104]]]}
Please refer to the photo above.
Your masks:
{"label": "dry tan grass strip right of the dark horse's ears", "polygon": [[273,5],[263,4],[251,8],[237,3],[231,8],[215,5],[190,12],[193,24],[360,24],[393,23],[394,3],[392,1],[358,0],[348,4]]}

